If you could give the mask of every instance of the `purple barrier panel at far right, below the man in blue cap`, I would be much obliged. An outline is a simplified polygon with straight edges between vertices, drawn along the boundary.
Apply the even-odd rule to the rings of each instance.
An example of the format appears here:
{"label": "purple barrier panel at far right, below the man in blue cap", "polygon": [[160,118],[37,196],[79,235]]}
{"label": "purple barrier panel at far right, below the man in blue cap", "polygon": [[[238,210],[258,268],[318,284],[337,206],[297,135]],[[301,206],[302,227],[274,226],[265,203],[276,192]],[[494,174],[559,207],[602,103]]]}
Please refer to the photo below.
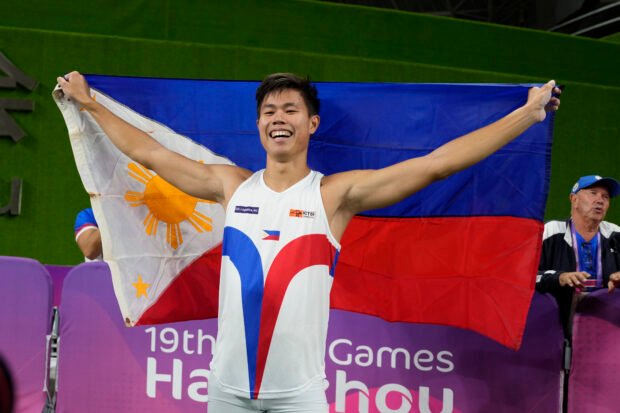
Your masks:
{"label": "purple barrier panel at far right, below the man in blue cap", "polygon": [[620,294],[584,296],[573,319],[568,411],[612,413],[620,406]]}

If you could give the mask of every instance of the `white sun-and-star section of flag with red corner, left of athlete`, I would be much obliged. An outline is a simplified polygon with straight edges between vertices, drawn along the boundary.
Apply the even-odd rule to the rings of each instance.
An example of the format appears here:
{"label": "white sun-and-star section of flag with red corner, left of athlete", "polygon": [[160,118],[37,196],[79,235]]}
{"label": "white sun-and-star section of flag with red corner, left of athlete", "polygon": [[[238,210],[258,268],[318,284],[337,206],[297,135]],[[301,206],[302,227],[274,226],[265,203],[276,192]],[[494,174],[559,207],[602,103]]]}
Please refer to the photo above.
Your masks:
{"label": "white sun-and-star section of flag with red corner, left of athlete", "polygon": [[[90,195],[127,325],[217,316],[221,205],[189,196],[132,161],[58,89],[80,177]],[[231,164],[96,89],[92,98],[164,146],[199,162]]]}

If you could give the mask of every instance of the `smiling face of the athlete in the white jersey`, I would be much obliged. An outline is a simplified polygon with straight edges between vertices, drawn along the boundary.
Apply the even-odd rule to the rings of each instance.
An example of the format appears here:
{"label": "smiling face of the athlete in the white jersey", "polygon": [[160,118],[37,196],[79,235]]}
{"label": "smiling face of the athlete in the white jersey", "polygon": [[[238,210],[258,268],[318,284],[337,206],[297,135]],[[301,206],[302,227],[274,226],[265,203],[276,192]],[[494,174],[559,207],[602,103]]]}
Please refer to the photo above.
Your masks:
{"label": "smiling face of the athlete in the white jersey", "polygon": [[319,126],[297,90],[285,89],[265,96],[256,121],[267,154],[279,161],[305,154],[308,141]]}

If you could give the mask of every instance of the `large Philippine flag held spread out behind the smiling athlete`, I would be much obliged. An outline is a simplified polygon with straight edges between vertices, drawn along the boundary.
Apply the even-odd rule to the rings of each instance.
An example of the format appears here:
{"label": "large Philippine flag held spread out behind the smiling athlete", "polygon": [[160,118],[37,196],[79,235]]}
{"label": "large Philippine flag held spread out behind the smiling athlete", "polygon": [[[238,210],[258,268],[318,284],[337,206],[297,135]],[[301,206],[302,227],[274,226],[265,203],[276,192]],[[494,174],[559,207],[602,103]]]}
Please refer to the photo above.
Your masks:
{"label": "large Philippine flag held spread out behind the smiling athlete", "polygon": [[[88,80],[94,99],[188,157],[264,167],[255,124],[257,82]],[[425,155],[518,108],[529,85],[317,88],[321,125],[310,141],[309,165],[332,174]],[[133,163],[90,115],[57,102],[128,324],[216,316],[222,208]],[[538,266],[552,130],[548,116],[478,165],[390,208],[355,217],[342,238],[332,307],[468,328],[517,349]],[[277,238],[275,232],[265,235]],[[136,297],[136,283],[144,284],[147,297]]]}

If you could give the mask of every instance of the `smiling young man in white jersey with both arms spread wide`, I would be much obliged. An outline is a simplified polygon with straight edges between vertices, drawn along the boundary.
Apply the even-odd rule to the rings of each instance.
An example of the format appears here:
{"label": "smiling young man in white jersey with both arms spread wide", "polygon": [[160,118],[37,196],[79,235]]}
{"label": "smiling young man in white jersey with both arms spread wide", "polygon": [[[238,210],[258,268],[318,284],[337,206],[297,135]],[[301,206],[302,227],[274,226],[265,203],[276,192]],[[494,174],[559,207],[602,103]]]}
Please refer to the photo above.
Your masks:
{"label": "smiling young man in white jersey with both arms spread wide", "polygon": [[323,176],[307,164],[320,123],[316,88],[265,78],[256,125],[265,169],[204,165],[172,152],[90,98],[78,72],[58,78],[127,156],[186,193],[226,208],[211,412],[326,412],[324,353],[339,240],[362,211],[392,205],[491,155],[557,110],[555,82],[530,89],[506,117],[426,156]]}

